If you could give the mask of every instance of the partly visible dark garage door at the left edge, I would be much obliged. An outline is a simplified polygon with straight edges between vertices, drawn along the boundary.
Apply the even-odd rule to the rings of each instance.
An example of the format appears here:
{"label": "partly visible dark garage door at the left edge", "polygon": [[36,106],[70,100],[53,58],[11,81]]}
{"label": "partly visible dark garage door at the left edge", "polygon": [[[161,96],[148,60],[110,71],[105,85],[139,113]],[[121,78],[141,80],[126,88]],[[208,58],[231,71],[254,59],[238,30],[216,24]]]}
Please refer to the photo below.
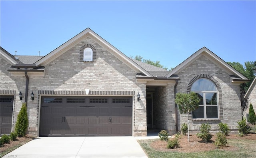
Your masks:
{"label": "partly visible dark garage door at the left edge", "polygon": [[1,135],[10,134],[12,131],[13,96],[0,97],[0,121]]}

